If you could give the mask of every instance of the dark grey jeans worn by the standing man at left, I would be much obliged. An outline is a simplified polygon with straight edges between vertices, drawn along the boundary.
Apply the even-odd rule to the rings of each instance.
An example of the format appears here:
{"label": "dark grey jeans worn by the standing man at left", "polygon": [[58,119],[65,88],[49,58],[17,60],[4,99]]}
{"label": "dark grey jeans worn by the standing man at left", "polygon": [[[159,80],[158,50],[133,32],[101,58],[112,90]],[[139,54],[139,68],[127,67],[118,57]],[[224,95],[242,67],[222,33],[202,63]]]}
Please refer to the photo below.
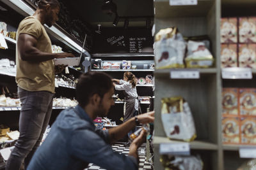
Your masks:
{"label": "dark grey jeans worn by the standing man at left", "polygon": [[52,112],[54,94],[47,91],[29,92],[18,87],[22,103],[19,119],[20,136],[6,163],[6,170],[19,170],[24,161],[28,167],[36,149],[42,141]]}

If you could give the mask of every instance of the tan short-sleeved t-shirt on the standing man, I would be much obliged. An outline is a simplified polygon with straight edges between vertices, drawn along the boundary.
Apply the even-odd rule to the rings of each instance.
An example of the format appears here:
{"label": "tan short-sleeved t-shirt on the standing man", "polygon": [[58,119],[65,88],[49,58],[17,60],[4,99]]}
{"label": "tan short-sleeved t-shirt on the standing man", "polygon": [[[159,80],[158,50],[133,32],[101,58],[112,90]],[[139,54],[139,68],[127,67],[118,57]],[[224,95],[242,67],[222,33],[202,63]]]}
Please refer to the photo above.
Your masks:
{"label": "tan short-sleeved t-shirt on the standing man", "polygon": [[[52,53],[51,39],[44,26],[35,17],[24,18],[19,24],[19,34],[29,34],[37,40],[36,48],[42,52]],[[16,82],[19,87],[28,91],[49,91],[54,93],[54,61],[29,62],[20,59],[16,46],[17,75]]]}

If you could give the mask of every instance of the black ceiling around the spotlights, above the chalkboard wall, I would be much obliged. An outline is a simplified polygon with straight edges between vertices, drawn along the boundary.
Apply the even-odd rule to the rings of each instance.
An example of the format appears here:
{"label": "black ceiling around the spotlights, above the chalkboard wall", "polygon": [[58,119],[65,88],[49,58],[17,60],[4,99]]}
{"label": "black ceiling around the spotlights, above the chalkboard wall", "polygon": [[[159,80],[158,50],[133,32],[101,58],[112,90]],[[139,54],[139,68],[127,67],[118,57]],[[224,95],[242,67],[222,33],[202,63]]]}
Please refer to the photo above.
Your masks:
{"label": "black ceiling around the spotlights, above the chalkboard wall", "polygon": [[[102,27],[114,27],[113,20],[115,15],[109,16],[103,13],[101,6],[104,0],[65,0],[76,13],[83,18],[84,21],[97,27],[101,24]],[[117,27],[124,26],[124,18],[129,18],[129,27],[143,27],[146,26],[147,17],[151,19],[151,25],[154,22],[154,2],[153,0],[113,0],[117,6],[118,16],[120,20]]]}

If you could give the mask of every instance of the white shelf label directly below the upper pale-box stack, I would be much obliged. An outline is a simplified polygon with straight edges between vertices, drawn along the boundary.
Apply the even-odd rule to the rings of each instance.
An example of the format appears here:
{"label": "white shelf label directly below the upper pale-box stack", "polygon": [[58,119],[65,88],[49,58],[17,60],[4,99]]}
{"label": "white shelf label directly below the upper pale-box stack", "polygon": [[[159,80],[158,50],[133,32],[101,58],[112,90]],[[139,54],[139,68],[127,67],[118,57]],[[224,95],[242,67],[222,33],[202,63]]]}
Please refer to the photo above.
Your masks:
{"label": "white shelf label directly below the upper pale-box stack", "polygon": [[252,79],[252,69],[240,67],[223,68],[221,76],[223,79]]}

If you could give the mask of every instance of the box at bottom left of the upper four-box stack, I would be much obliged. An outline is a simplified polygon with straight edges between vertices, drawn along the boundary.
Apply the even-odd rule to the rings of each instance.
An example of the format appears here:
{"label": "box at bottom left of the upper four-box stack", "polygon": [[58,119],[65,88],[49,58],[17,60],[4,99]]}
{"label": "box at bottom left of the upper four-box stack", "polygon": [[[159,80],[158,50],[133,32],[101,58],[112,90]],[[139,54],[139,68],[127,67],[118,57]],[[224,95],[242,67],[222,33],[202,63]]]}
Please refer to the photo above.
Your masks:
{"label": "box at bottom left of the upper four-box stack", "polygon": [[237,67],[237,45],[236,44],[222,44],[221,45],[221,67]]}

